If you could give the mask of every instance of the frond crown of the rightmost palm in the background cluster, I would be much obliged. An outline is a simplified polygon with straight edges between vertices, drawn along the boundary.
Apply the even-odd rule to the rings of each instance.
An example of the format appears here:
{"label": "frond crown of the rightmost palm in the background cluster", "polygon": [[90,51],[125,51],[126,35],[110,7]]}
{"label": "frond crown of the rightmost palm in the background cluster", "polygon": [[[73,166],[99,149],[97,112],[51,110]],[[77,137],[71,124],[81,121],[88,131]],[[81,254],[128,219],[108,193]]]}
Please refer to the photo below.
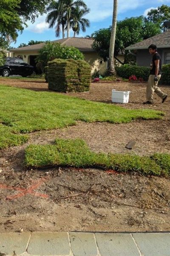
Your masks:
{"label": "frond crown of the rightmost palm in the background cluster", "polygon": [[83,18],[84,15],[88,14],[90,9],[80,9],[78,6],[74,8],[71,14],[70,26],[74,31],[74,37],[79,35],[80,29],[82,32],[86,32],[86,27],[90,26],[90,21]]}

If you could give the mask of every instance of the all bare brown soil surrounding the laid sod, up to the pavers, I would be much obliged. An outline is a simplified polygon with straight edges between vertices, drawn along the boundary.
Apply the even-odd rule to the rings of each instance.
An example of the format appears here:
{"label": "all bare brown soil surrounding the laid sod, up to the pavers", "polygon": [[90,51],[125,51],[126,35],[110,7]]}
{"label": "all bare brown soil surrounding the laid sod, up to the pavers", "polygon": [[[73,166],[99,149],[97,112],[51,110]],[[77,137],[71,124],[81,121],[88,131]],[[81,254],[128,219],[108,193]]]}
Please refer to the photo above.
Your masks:
{"label": "all bare brown soil surrounding the laid sod, up to the pavers", "polygon": [[[40,81],[0,78],[0,84],[47,90]],[[85,123],[29,134],[28,143],[0,151],[0,230],[39,231],[169,231],[170,179],[118,174],[99,169],[25,170],[24,149],[30,143],[53,143],[56,137],[82,138],[94,151],[150,155],[170,153],[170,98],[145,106],[146,84],[92,83],[88,93],[68,93],[111,103],[111,90],[130,90],[125,108],[152,108],[163,120],[128,124]],[[170,95],[170,87],[161,87]],[[120,104],[118,104],[120,105]],[[121,105],[122,106],[122,105]],[[136,148],[125,145],[136,140]]]}

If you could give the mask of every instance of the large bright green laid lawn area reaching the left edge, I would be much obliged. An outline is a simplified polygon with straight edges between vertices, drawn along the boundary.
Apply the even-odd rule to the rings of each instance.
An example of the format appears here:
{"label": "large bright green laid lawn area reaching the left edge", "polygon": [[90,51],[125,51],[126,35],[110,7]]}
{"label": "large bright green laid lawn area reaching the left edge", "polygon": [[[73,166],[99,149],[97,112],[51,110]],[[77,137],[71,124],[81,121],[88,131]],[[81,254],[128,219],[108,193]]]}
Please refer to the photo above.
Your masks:
{"label": "large bright green laid lawn area reaching the left edge", "polygon": [[25,143],[28,137],[20,134],[63,128],[75,125],[77,120],[127,123],[162,116],[162,112],[150,109],[129,110],[60,93],[0,85],[0,148]]}

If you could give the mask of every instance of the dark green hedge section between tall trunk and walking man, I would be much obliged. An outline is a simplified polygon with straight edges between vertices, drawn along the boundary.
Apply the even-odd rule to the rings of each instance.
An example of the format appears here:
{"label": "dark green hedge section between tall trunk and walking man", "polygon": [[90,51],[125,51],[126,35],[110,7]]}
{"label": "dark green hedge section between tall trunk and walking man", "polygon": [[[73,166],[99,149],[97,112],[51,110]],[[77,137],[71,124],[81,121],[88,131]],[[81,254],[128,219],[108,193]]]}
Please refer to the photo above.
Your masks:
{"label": "dark green hedge section between tall trunk and walking man", "polygon": [[126,79],[135,75],[138,79],[142,78],[144,81],[147,81],[150,74],[150,69],[148,67],[133,66],[129,64],[122,65],[121,67],[115,67],[115,70],[118,76]]}

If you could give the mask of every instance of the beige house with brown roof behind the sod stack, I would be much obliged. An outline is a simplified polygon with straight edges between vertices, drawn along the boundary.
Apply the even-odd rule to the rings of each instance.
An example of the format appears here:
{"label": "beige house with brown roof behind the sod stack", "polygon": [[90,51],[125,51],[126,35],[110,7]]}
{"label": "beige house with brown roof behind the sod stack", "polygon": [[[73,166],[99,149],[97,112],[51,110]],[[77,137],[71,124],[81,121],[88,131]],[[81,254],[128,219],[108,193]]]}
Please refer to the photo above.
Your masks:
{"label": "beige house with brown roof behind the sod stack", "polygon": [[[99,56],[97,52],[92,48],[92,44],[94,42],[93,38],[64,38],[52,41],[52,43],[60,43],[62,45],[74,46],[79,49],[85,55],[85,61],[87,61],[91,65],[91,74],[96,72],[100,72],[100,74],[104,74],[107,69],[107,62],[103,62],[99,64]],[[39,50],[45,45],[45,43],[34,44],[26,47],[14,48],[11,49],[13,57],[23,58],[25,62],[35,67],[35,58],[39,54]],[[119,59],[124,61],[124,55],[120,54]]]}

